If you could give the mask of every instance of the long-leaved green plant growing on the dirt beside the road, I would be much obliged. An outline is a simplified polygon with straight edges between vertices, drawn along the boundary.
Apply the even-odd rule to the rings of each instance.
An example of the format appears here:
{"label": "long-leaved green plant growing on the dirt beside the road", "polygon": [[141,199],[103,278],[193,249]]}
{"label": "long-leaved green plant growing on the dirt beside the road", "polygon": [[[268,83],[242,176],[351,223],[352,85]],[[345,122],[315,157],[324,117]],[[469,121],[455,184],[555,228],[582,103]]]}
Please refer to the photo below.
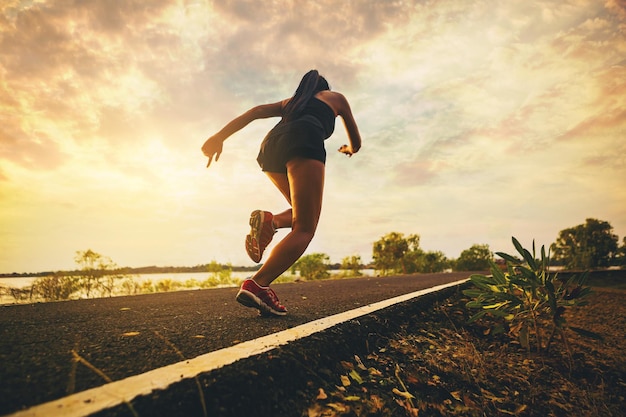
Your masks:
{"label": "long-leaved green plant growing on the dirt beside the road", "polygon": [[[591,292],[591,288],[585,286],[587,273],[573,275],[566,282],[560,281],[557,274],[548,271],[550,255],[543,246],[541,257],[537,259],[534,241],[532,254],[515,237],[513,245],[521,259],[496,253],[504,259],[506,271],[490,261],[491,275],[470,277],[475,288],[463,291],[472,298],[466,306],[479,311],[469,321],[474,322],[486,315],[498,318],[491,330],[502,332],[508,327],[509,336],[528,350],[534,345],[538,352],[548,351],[558,333],[570,354],[563,313],[567,307],[586,304],[584,298]],[[576,327],[569,328],[591,335]]]}

